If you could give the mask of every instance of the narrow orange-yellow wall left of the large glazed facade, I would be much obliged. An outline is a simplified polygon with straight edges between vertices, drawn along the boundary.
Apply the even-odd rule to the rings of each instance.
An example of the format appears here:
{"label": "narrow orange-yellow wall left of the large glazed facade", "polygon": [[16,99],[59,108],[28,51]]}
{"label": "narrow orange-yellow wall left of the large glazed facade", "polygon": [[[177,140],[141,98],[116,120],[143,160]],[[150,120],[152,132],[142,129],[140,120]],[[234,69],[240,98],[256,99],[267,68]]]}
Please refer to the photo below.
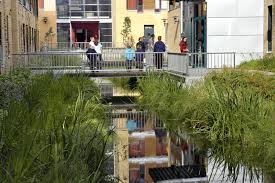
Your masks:
{"label": "narrow orange-yellow wall left of the large glazed facade", "polygon": [[[39,46],[43,47],[45,42],[45,35],[49,31],[50,27],[52,27],[53,36],[49,40],[49,44],[51,47],[54,47],[57,43],[57,24],[56,24],[56,1],[55,0],[47,0],[44,1],[44,8],[39,9]],[[45,21],[45,19],[47,21]]]}

